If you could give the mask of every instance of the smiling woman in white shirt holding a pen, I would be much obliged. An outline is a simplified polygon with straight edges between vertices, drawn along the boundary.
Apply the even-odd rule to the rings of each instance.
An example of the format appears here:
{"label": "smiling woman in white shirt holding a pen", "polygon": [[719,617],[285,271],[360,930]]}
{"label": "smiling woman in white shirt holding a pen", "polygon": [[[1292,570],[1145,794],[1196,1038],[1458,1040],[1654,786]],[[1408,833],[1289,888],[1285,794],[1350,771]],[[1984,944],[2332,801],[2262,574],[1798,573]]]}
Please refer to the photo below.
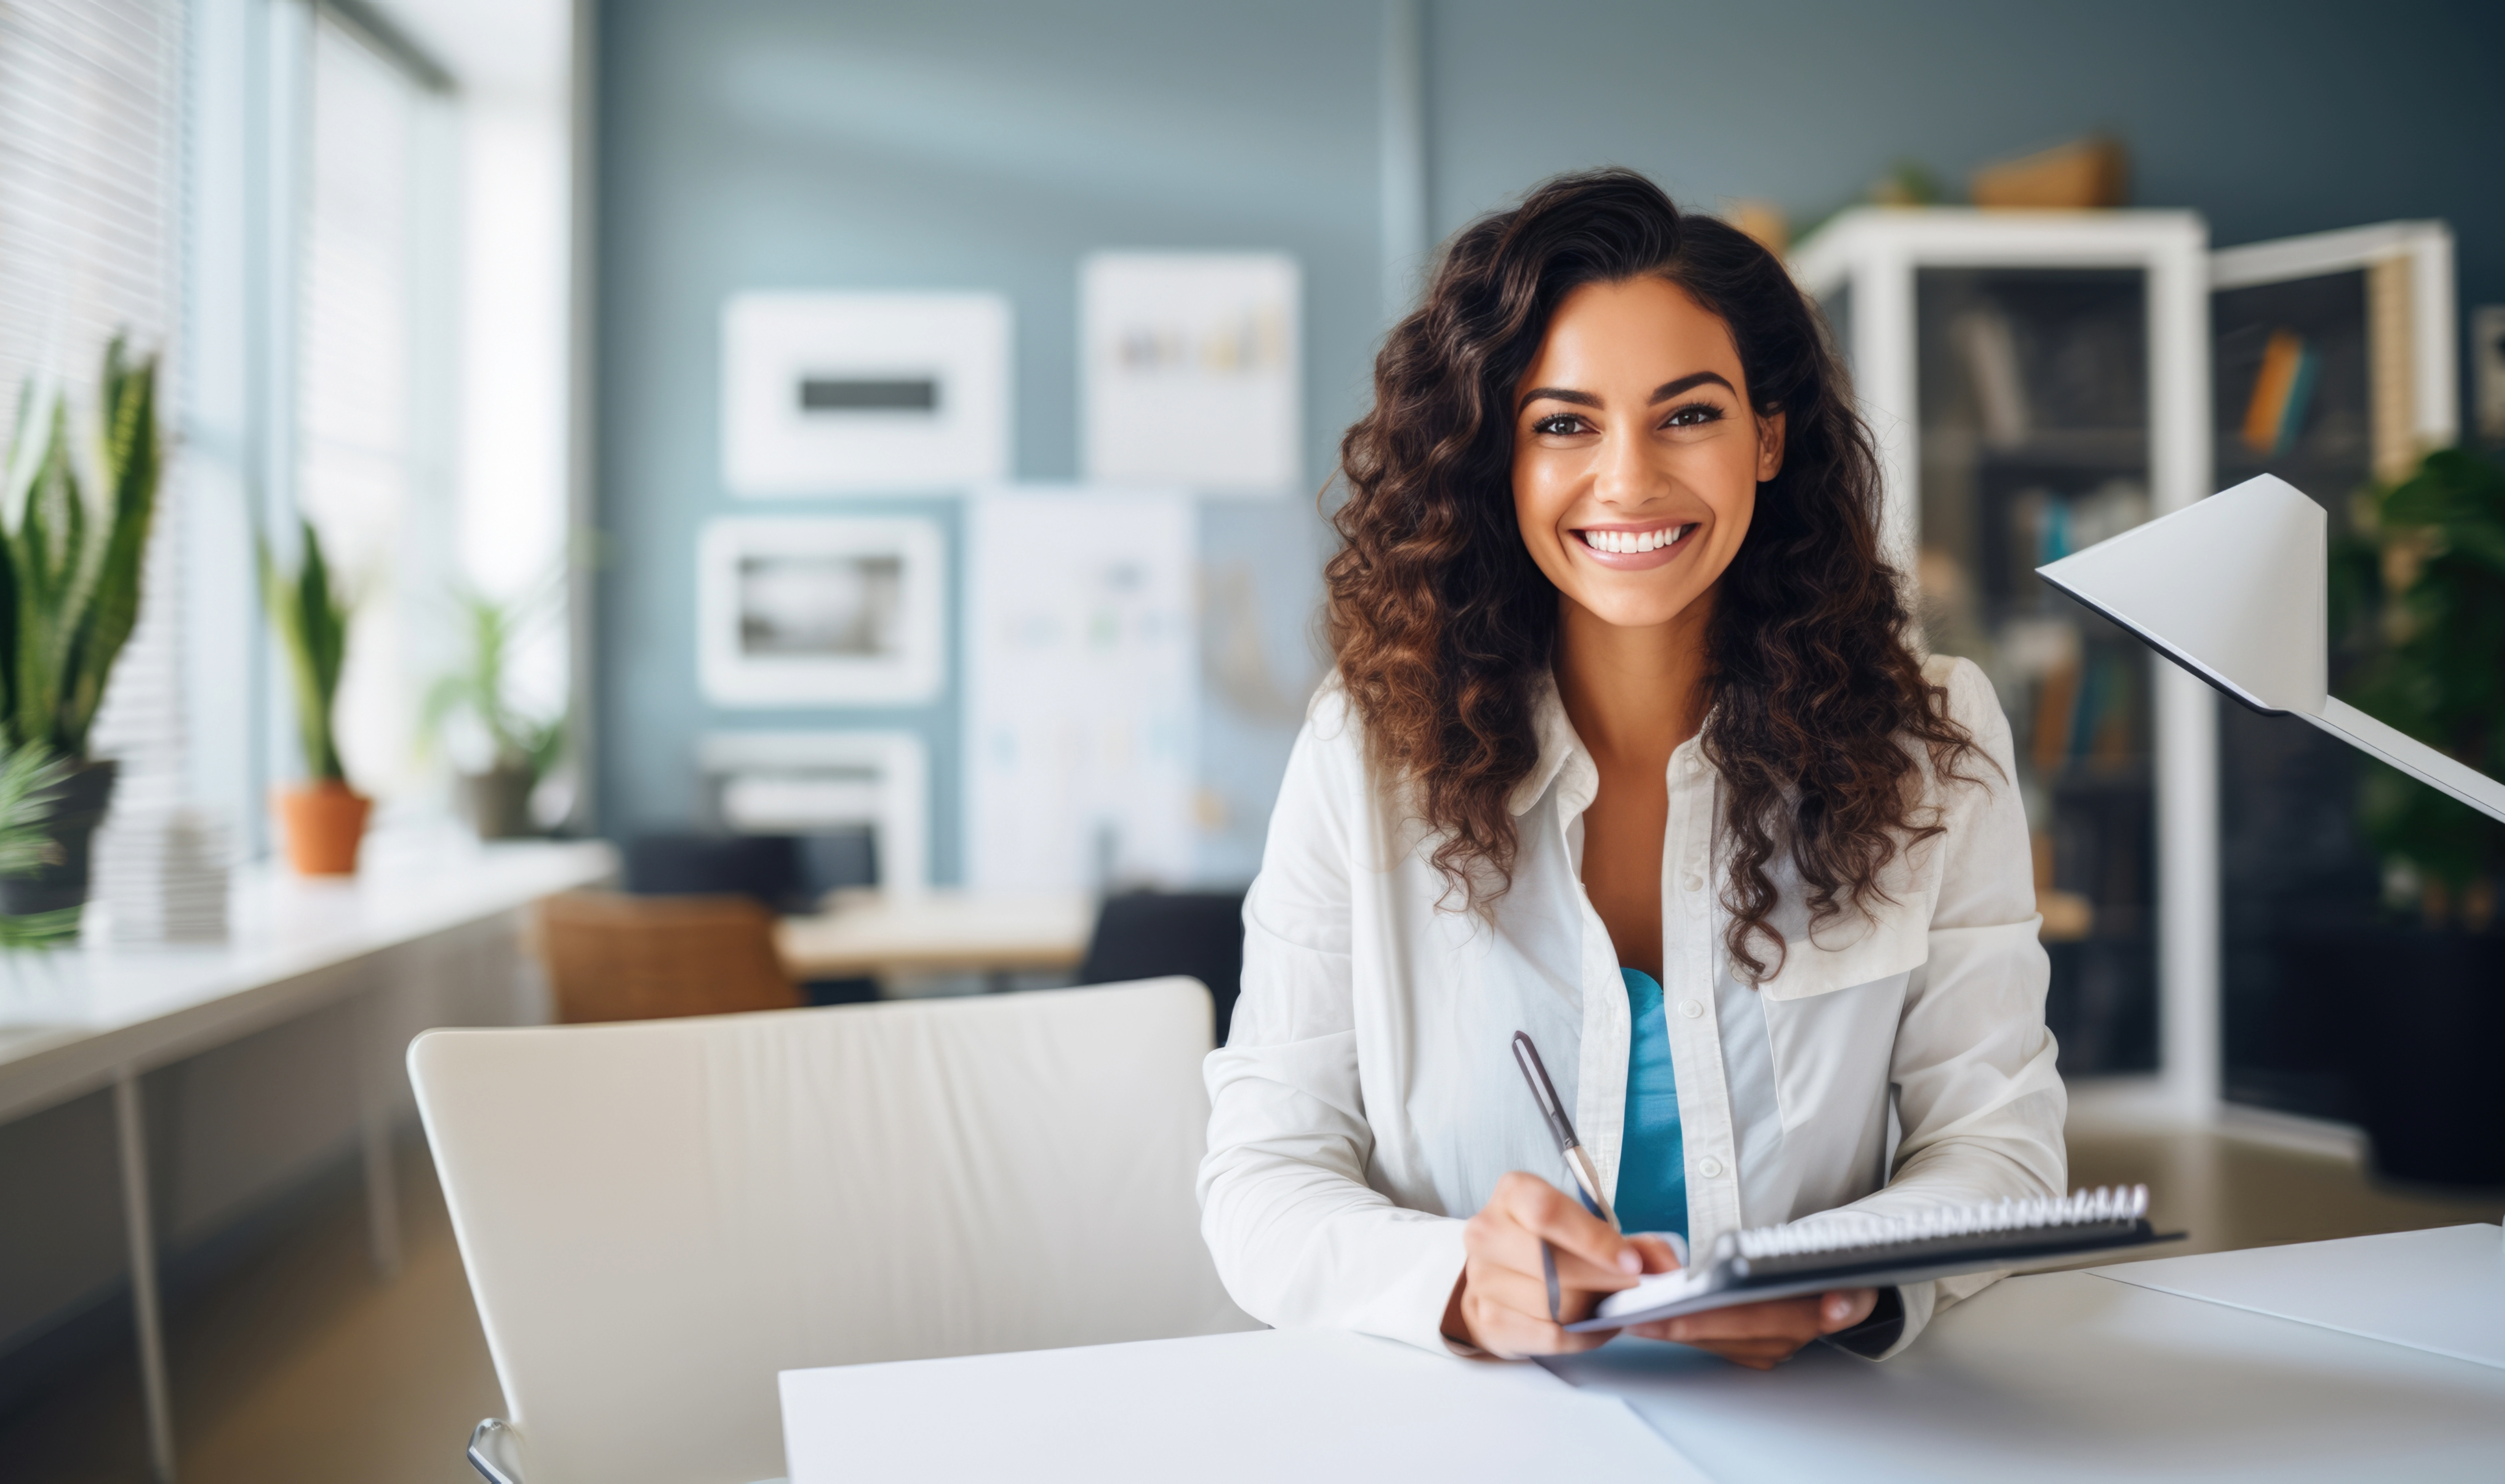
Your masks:
{"label": "smiling woman in white shirt holding a pen", "polygon": [[[1551,1319],[1541,1241],[1566,1319],[1673,1246],[1561,1194],[1516,1031],[1626,1231],[2059,1194],[2009,726],[1909,643],[1869,433],[1781,263],[1641,175],[1553,180],[1453,238],[1340,455],[1338,673],[1207,1064],[1235,1301],[1601,1344]],[[1884,1356],[1984,1281],[1638,1334]]]}

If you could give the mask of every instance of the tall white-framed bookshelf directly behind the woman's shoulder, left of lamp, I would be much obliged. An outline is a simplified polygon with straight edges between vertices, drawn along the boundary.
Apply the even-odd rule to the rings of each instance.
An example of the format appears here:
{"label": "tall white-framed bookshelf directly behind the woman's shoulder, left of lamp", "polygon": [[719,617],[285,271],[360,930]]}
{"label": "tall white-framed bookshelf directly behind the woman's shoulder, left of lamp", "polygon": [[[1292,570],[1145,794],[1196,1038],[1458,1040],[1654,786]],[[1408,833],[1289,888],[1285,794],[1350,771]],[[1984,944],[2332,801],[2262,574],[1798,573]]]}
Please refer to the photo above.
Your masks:
{"label": "tall white-framed bookshelf directly behind the woman's shoulder, left of lamp", "polygon": [[2179,210],[1849,210],[1794,250],[1879,438],[1924,641],[1991,676],[2074,1119],[2219,1096],[2217,706],[2034,568],[2212,483],[2207,228]]}

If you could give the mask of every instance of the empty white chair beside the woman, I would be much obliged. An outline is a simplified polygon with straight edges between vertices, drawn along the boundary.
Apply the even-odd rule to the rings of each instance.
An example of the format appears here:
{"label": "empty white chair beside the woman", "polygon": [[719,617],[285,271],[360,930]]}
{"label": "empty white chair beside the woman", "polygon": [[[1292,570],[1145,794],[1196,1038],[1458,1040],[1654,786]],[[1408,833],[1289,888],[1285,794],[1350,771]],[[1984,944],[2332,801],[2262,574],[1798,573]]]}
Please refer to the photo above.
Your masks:
{"label": "empty white chair beside the woman", "polygon": [[1155,978],[408,1049],[526,1484],[782,1474],[794,1366],[1258,1329],[1200,1241],[1210,994]]}

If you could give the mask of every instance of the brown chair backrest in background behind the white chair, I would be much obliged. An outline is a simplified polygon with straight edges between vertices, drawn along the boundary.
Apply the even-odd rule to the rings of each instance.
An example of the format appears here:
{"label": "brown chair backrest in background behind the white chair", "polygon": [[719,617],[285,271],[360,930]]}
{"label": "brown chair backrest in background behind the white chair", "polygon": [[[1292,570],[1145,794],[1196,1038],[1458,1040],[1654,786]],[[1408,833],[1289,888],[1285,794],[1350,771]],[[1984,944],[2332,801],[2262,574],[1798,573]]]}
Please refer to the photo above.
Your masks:
{"label": "brown chair backrest in background behind the white chair", "polygon": [[556,1019],[659,1021],[802,1004],[774,913],[744,896],[566,891],[539,903]]}

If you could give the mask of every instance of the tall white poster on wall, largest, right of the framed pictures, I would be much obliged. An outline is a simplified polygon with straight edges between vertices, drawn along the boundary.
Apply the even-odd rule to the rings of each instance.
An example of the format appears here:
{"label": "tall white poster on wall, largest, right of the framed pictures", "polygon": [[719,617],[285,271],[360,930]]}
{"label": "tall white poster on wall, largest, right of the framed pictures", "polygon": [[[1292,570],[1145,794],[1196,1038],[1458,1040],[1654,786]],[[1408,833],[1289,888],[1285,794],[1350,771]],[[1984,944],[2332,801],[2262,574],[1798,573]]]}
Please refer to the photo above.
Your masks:
{"label": "tall white poster on wall, largest, right of the framed pictures", "polygon": [[1002,488],[967,511],[964,861],[987,891],[1192,873],[1192,501]]}

